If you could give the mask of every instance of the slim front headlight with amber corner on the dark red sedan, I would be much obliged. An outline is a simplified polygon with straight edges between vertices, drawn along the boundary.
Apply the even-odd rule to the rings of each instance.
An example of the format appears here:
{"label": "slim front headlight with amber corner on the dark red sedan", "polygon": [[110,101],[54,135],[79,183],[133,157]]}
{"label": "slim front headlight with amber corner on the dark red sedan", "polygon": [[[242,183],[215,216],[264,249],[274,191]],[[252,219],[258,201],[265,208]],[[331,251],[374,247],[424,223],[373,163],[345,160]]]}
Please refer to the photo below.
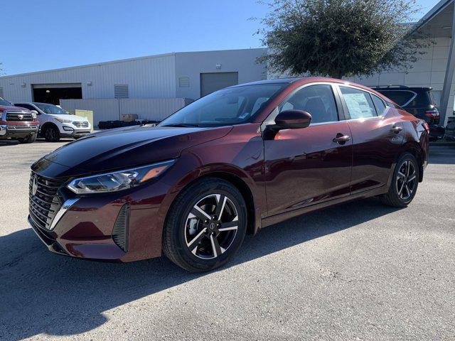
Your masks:
{"label": "slim front headlight with amber corner on the dark red sedan", "polygon": [[170,160],[124,171],[87,176],[86,178],[71,181],[66,187],[76,194],[109,193],[117,190],[126,190],[156,178],[172,166],[174,162],[176,161]]}

